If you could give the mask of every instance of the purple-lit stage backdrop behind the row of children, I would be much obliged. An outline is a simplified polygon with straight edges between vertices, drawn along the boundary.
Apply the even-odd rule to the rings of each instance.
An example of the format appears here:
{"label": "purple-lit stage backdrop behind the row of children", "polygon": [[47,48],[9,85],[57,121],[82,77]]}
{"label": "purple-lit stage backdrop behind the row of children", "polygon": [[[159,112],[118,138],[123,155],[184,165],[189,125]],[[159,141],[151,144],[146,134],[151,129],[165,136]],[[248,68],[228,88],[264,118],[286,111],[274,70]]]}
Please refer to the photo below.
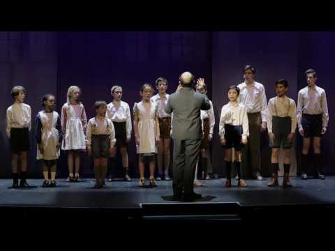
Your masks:
{"label": "purple-lit stage backdrop behind the row of children", "polygon": [[[41,109],[43,94],[57,95],[57,111],[60,112],[68,86],[80,86],[82,102],[91,118],[94,101],[110,102],[110,88],[114,84],[124,87],[123,100],[132,108],[134,102],[140,100],[140,86],[144,82],[154,84],[157,77],[166,77],[168,93],[171,93],[177,87],[180,73],[185,70],[196,77],[204,77],[209,86],[209,97],[216,113],[213,165],[222,173],[223,150],[217,136],[220,111],[228,102],[227,87],[242,81],[241,68],[246,63],[258,70],[257,80],[265,85],[267,99],[275,95],[274,81],[286,78],[290,84],[289,96],[297,101],[297,91],[306,85],[304,70],[317,70],[318,84],[327,92],[329,107],[329,130],[322,139],[325,172],[334,172],[330,165],[335,161],[332,130],[335,89],[331,86],[334,43],[334,32],[0,32],[0,107],[3,114],[0,120],[0,176],[10,174],[4,118],[11,104],[12,86],[20,84],[27,88],[26,101],[31,105],[33,116]],[[267,173],[270,166],[266,137],[262,142],[262,168]],[[40,177],[36,144],[32,146],[29,174]],[[137,173],[133,140],[129,156],[131,172]],[[61,173],[66,175],[64,157],[62,153],[60,166]],[[82,174],[93,174],[90,165],[90,159],[83,155]]]}

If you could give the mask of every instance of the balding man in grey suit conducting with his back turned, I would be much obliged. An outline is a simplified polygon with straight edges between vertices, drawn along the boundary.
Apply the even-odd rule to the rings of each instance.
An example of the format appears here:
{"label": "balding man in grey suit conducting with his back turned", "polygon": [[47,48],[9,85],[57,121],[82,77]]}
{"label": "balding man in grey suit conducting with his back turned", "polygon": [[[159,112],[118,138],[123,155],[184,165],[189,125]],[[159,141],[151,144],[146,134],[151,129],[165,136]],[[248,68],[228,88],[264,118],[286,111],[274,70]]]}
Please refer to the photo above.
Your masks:
{"label": "balding man in grey suit conducting with his back turned", "polygon": [[[191,73],[179,77],[179,86],[169,97],[165,112],[173,112],[173,197],[174,200],[193,201],[201,195],[193,191],[195,165],[200,153],[202,137],[200,109],[210,109],[207,96],[192,89],[195,79]],[[184,192],[183,192],[184,190]]]}

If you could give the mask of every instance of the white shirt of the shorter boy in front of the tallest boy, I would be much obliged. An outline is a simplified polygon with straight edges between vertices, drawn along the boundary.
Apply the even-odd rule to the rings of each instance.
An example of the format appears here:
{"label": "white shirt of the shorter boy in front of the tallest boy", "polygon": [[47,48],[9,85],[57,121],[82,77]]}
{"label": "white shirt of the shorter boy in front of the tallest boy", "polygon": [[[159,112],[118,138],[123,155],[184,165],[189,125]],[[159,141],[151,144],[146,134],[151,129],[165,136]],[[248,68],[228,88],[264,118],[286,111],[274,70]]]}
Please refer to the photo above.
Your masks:
{"label": "white shirt of the shorter boy in front of the tallest boy", "polygon": [[248,137],[249,124],[248,116],[246,114],[246,106],[241,103],[232,105],[231,102],[228,102],[227,105],[223,105],[221,109],[220,124],[218,128],[218,135],[220,135],[221,139],[225,138],[225,124],[229,124],[232,126],[242,126],[242,137]]}

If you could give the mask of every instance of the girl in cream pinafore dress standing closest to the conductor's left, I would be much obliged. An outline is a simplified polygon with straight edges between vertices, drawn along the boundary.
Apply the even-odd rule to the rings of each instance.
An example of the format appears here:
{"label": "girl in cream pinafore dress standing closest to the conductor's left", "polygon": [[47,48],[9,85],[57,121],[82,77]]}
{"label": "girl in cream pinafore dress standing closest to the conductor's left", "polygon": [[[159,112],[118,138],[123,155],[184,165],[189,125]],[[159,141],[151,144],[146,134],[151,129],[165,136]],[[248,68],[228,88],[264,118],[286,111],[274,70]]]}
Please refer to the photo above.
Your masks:
{"label": "girl in cream pinafore dress standing closest to the conductor's left", "polygon": [[160,140],[158,107],[156,102],[150,100],[154,89],[150,84],[144,84],[140,91],[142,101],[135,102],[134,131],[136,150],[139,154],[138,167],[140,169],[140,186],[145,185],[144,179],[144,157],[149,158],[150,186],[156,186],[155,181],[155,155],[157,153],[156,142]]}

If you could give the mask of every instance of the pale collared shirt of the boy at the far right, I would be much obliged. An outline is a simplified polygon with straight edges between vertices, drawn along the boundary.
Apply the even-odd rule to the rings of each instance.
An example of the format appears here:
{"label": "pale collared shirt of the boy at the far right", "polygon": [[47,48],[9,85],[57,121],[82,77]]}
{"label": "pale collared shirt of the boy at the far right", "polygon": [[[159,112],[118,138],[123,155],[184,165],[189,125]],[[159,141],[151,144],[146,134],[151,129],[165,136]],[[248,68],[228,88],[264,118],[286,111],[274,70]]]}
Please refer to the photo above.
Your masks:
{"label": "pale collared shirt of the boy at the far right", "polygon": [[322,126],[327,127],[329,121],[326,92],[315,85],[315,89],[306,86],[298,93],[297,121],[301,126],[302,114],[322,114]]}

